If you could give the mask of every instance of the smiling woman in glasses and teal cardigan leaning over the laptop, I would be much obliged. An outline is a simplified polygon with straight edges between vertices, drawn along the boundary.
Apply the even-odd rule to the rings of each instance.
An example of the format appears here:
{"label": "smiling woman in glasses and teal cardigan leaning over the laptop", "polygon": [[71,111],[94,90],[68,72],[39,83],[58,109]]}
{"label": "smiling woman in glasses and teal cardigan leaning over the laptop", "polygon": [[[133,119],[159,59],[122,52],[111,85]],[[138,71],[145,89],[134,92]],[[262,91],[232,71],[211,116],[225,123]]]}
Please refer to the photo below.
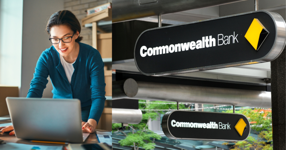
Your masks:
{"label": "smiling woman in glasses and teal cardigan leaning over the laptop", "polygon": [[[81,25],[69,10],[54,13],[47,24],[53,46],[38,59],[28,97],[42,97],[48,83],[53,85],[53,98],[81,100],[82,130],[93,133],[104,108],[104,63],[98,50],[80,43]],[[13,126],[0,127],[2,132]],[[14,135],[15,132],[10,132]]]}

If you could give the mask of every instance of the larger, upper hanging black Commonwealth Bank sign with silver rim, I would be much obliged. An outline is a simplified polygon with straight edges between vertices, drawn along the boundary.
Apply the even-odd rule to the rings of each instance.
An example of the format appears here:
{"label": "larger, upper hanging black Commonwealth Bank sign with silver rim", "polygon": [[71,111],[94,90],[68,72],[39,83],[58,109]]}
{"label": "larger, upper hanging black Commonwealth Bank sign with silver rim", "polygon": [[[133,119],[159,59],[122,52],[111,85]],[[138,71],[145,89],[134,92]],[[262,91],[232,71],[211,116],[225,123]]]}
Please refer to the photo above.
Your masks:
{"label": "larger, upper hanging black Commonwealth Bank sign with silver rim", "polygon": [[285,47],[286,27],[264,10],[144,31],[134,59],[147,76],[164,76],[269,62]]}

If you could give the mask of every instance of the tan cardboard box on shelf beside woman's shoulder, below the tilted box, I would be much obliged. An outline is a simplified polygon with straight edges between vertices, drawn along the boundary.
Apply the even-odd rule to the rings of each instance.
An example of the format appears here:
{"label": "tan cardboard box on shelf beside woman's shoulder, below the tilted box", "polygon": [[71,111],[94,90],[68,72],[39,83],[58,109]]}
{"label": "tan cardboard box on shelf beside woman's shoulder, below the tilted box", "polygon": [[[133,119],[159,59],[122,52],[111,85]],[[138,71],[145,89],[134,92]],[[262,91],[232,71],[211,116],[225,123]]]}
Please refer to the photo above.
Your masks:
{"label": "tan cardboard box on shelf beside woman's shoulder, below the tilted box", "polygon": [[112,58],[112,33],[97,35],[97,50],[102,58]]}

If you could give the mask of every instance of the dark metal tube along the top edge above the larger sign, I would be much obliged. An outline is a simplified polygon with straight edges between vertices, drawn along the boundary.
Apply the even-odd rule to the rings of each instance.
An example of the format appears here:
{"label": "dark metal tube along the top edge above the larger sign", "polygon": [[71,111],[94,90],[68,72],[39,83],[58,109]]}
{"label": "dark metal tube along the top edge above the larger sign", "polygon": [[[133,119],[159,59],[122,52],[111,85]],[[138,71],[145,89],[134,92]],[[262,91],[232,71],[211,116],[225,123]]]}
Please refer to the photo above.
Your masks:
{"label": "dark metal tube along the top edge above the larger sign", "polygon": [[146,2],[144,0],[113,0],[112,23],[218,6],[238,1],[244,0],[154,0],[153,2]]}

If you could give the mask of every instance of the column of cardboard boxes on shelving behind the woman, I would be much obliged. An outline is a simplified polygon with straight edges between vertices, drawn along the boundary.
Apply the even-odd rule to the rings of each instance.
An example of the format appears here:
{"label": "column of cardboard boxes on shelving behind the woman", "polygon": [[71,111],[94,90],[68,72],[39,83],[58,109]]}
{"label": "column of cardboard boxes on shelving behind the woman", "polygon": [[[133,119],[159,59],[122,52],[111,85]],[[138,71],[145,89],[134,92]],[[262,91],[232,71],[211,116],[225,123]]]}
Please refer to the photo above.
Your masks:
{"label": "column of cardboard boxes on shelving behind the woman", "polygon": [[[97,27],[98,21],[111,21],[112,9],[111,3],[106,3],[94,8],[86,10],[87,16],[82,19],[82,25],[92,23],[92,46],[99,51],[103,59],[112,58],[112,33],[100,33],[97,31],[102,30]],[[112,60],[112,59],[111,59]],[[111,63],[105,63],[104,77],[105,77],[105,92],[106,96],[112,96],[112,70],[110,70]],[[108,100],[105,101],[105,107],[101,118],[99,120],[97,129],[112,130],[112,108],[109,105]]]}

